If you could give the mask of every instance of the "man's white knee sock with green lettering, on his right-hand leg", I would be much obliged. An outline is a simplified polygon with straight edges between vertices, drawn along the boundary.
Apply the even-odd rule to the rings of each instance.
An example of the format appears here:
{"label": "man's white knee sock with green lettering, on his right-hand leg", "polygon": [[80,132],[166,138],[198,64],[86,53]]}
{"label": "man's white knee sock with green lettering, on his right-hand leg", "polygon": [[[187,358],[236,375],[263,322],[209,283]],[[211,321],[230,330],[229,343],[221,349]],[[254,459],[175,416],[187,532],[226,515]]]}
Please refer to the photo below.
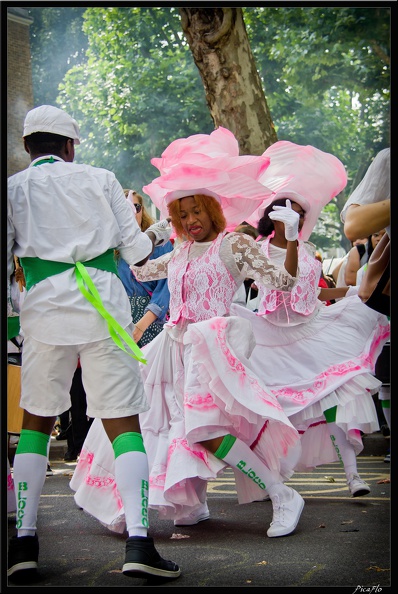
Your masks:
{"label": "man's white knee sock with green lettering, on his right-hand leg", "polygon": [[115,459],[115,479],[124,505],[129,536],[148,535],[149,469],[143,452],[125,452]]}

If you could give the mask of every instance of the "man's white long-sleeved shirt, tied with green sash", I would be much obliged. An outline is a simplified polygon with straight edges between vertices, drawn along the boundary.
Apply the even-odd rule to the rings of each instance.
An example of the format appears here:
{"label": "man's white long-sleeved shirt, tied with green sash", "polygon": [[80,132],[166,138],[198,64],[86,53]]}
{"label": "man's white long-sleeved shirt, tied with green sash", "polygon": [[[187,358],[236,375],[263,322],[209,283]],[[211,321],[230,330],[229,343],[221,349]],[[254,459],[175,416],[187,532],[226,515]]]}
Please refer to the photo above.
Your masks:
{"label": "man's white long-sleeved shirt, tied with green sash", "polygon": [[[7,272],[13,254],[56,262],[85,262],[110,248],[135,264],[152,250],[115,175],[90,165],[34,164],[8,180]],[[104,307],[119,324],[131,323],[130,303],[112,273],[87,268]],[[46,344],[84,344],[109,337],[106,321],[80,292],[75,269],[50,276],[27,293],[20,315],[25,337]]]}

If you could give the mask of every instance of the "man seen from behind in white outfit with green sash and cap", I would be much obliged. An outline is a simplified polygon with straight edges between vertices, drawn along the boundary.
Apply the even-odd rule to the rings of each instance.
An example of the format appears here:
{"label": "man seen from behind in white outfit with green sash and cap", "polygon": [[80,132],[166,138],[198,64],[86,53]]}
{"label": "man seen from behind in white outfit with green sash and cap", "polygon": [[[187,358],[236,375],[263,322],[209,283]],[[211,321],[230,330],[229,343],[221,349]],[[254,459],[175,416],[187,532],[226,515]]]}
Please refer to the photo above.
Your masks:
{"label": "man seen from behind in white outfit with green sash and cap", "polygon": [[31,163],[8,180],[8,276],[16,255],[28,291],[20,315],[24,419],[8,575],[30,580],[37,571],[48,442],[56,417],[70,407],[80,358],[87,415],[102,419],[115,454],[129,534],[123,573],[176,578],[178,565],[162,559],[148,536],[148,462],[138,419],[149,408],[138,367],[144,360],[131,338],[130,303],[113,258],[117,248],[130,265],[144,264],[170,228],[161,221],[142,233],[115,175],[73,163],[79,127],[64,111],[51,105],[29,111],[23,140]]}

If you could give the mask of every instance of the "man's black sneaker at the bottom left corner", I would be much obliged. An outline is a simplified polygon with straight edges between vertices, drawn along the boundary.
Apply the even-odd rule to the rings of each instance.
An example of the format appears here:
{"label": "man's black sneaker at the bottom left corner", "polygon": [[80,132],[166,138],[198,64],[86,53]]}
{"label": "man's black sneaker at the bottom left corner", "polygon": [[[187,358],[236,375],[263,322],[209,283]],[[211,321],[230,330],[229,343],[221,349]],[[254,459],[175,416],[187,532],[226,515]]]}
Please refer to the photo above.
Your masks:
{"label": "man's black sneaker at the bottom left corner", "polygon": [[34,536],[13,536],[8,547],[8,576],[36,575],[39,560],[39,539]]}

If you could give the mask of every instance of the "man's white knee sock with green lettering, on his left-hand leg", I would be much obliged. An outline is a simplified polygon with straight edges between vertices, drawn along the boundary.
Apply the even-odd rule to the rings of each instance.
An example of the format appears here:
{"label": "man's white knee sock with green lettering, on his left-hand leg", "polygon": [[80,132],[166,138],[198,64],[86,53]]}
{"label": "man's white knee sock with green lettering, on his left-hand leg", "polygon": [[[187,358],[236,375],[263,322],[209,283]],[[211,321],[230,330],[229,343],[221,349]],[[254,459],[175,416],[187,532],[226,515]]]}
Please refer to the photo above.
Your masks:
{"label": "man's white knee sock with green lettering, on his left-hand leg", "polygon": [[40,495],[46,480],[47,458],[40,454],[15,454],[14,488],[18,536],[34,536]]}

